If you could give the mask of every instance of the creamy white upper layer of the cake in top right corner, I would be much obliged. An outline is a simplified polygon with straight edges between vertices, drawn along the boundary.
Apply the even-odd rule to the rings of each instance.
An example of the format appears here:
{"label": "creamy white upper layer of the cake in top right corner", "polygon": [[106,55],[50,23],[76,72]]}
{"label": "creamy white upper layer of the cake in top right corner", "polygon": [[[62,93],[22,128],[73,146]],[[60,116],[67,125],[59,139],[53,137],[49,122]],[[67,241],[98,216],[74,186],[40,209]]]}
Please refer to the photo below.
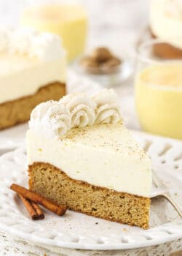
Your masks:
{"label": "creamy white upper layer of the cake in top right corner", "polygon": [[152,0],[150,26],[159,39],[182,48],[182,1]]}

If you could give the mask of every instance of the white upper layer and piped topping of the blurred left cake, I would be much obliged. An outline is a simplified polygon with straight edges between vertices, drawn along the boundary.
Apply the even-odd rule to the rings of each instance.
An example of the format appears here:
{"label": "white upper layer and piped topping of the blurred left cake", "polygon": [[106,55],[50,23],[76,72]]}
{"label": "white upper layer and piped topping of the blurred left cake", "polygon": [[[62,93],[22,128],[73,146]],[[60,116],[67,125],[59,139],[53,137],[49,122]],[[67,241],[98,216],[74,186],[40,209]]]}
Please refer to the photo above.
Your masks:
{"label": "white upper layer and piped topping of the blurred left cake", "polygon": [[0,29],[0,104],[65,81],[60,37],[33,29]]}

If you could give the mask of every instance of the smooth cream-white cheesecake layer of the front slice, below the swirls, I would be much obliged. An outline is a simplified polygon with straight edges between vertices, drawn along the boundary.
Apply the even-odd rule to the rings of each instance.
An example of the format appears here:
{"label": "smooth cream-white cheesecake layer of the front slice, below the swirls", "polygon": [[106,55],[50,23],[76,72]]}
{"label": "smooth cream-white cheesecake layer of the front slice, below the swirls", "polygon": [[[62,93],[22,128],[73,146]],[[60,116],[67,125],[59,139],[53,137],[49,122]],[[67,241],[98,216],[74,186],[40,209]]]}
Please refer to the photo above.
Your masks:
{"label": "smooth cream-white cheesecake layer of the front slice, below the swirls", "polygon": [[28,165],[48,162],[76,180],[143,197],[150,195],[151,161],[123,124],[74,128],[61,140],[45,139],[29,129],[27,152]]}

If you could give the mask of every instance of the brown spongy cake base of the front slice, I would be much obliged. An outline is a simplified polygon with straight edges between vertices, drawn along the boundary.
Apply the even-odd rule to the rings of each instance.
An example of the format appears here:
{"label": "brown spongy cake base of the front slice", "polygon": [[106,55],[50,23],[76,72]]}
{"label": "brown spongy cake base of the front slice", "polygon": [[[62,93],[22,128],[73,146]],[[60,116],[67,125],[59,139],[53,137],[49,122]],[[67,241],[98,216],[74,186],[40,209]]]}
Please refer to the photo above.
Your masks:
{"label": "brown spongy cake base of the front slice", "polygon": [[93,186],[84,181],[69,178],[57,167],[36,162],[29,165],[29,187],[69,209],[102,219],[149,227],[150,199],[104,187]]}

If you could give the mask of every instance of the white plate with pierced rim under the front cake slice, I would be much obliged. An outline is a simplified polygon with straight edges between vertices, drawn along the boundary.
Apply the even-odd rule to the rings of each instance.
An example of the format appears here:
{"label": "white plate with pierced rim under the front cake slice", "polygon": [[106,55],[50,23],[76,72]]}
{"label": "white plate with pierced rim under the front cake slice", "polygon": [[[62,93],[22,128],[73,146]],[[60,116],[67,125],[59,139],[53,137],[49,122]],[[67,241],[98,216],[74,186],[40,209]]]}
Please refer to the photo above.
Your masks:
{"label": "white plate with pierced rim under the front cake slice", "polygon": [[[182,205],[182,143],[133,132],[136,140],[148,151],[154,170],[170,191],[170,196]],[[163,199],[152,200],[149,230],[129,227],[74,211],[64,217],[46,211],[45,219],[29,219],[10,184],[28,184],[25,148],[4,154],[0,158],[0,230],[35,244],[74,249],[132,249],[162,244],[182,238],[182,219]]]}

